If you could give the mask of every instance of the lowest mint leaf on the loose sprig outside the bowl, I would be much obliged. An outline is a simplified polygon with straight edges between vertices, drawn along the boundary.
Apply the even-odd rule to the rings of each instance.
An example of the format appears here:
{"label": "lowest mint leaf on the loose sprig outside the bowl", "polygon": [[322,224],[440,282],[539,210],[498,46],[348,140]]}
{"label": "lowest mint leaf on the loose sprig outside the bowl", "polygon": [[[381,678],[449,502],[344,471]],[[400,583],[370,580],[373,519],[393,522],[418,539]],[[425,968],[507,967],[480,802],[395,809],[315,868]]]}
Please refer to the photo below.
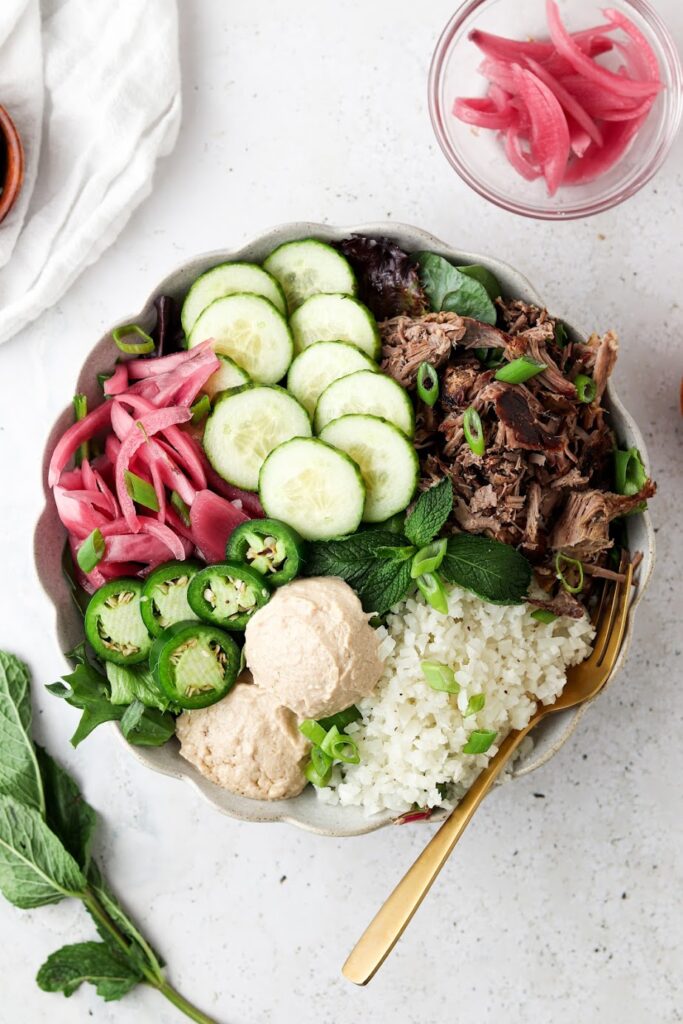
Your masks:
{"label": "lowest mint leaf on the loose sprig outside the bowl", "polygon": [[142,975],[104,942],[62,946],[47,957],[36,976],[44,992],[63,992],[70,996],[88,982],[105,1001],[120,999],[141,980]]}

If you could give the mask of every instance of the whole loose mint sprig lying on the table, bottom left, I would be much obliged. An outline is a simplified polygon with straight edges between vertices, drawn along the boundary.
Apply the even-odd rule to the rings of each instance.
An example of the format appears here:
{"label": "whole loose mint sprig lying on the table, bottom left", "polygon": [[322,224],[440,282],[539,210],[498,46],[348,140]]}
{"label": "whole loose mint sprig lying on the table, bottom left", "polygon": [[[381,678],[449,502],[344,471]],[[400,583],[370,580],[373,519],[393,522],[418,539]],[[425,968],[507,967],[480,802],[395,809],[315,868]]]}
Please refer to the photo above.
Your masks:
{"label": "whole loose mint sprig lying on the table, bottom left", "polygon": [[169,985],[163,962],[106,886],[90,854],[96,822],[76,781],[34,744],[29,670],[0,651],[0,892],[23,909],[79,899],[101,940],[52,953],[39,986],[69,996],[86,982],[112,1000],[145,982],[197,1024],[216,1024]]}

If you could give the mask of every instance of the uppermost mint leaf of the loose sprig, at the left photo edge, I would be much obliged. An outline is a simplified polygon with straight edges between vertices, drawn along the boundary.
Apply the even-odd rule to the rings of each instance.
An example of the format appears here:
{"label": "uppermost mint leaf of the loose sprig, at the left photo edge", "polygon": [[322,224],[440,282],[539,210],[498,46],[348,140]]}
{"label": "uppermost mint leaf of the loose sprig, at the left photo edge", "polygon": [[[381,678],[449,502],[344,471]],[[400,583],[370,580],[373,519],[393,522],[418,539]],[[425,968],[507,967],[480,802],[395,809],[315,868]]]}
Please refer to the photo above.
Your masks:
{"label": "uppermost mint leaf of the loose sprig, at the left photo edge", "polygon": [[45,810],[45,797],[31,738],[31,676],[24,662],[0,651],[0,794]]}

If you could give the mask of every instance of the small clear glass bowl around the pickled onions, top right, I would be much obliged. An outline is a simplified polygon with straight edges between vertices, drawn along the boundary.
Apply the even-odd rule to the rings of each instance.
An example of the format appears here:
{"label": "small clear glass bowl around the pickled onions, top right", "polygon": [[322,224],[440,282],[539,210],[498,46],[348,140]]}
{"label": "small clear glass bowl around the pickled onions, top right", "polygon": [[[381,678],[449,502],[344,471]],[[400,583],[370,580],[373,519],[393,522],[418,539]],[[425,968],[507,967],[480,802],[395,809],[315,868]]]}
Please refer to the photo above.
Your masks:
{"label": "small clear glass bowl around the pickled onions, top right", "polygon": [[[498,133],[459,121],[457,96],[483,95],[477,68],[483,54],[470,42],[472,29],[513,39],[548,38],[545,0],[467,0],[455,12],[436,44],[429,72],[429,113],[436,138],[452,167],[470,187],[492,203],[525,217],[570,220],[608,210],[635,195],[661,167],[676,137],[683,111],[683,73],[676,46],[659,15],[646,0],[559,0],[570,32],[604,20],[602,6],[621,11],[647,38],[656,54],[665,88],[631,147],[595,181],[563,185],[549,196],[543,178],[526,181],[508,163]],[[608,66],[608,61],[606,62]]]}

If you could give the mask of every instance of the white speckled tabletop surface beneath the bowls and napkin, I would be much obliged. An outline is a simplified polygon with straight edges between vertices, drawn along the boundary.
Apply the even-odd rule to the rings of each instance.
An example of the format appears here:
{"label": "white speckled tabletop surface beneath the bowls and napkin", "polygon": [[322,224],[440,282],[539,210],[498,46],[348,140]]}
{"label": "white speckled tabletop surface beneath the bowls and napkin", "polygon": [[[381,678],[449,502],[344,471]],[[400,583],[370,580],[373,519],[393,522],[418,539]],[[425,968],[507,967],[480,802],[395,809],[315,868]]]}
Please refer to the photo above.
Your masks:
{"label": "white speckled tabletop surface beneath the bowls and napkin", "polygon": [[[289,219],[421,224],[499,253],[558,313],[616,327],[618,390],[660,487],[659,560],[620,682],[550,764],[488,799],[368,989],[339,969],[429,828],[335,841],[231,821],[108,732],[72,751],[75,713],[37,687],[42,738],[103,812],[97,851],[111,881],[172,980],[220,1024],[683,1020],[683,139],[622,209],[555,227],[523,221],[461,186],[432,140],[426,68],[445,0],[421,11],[339,0],[334,14],[312,0],[181,6],[184,121],[156,194],[59,306],[0,350],[0,646],[28,657],[37,682],[53,680],[59,654],[31,536],[39,453],[85,350],[180,259]],[[656,6],[680,46],[683,8]],[[44,956],[90,935],[76,905],[0,903],[1,1024],[181,1019],[152,992],[120,1005],[92,990],[41,993]]]}

